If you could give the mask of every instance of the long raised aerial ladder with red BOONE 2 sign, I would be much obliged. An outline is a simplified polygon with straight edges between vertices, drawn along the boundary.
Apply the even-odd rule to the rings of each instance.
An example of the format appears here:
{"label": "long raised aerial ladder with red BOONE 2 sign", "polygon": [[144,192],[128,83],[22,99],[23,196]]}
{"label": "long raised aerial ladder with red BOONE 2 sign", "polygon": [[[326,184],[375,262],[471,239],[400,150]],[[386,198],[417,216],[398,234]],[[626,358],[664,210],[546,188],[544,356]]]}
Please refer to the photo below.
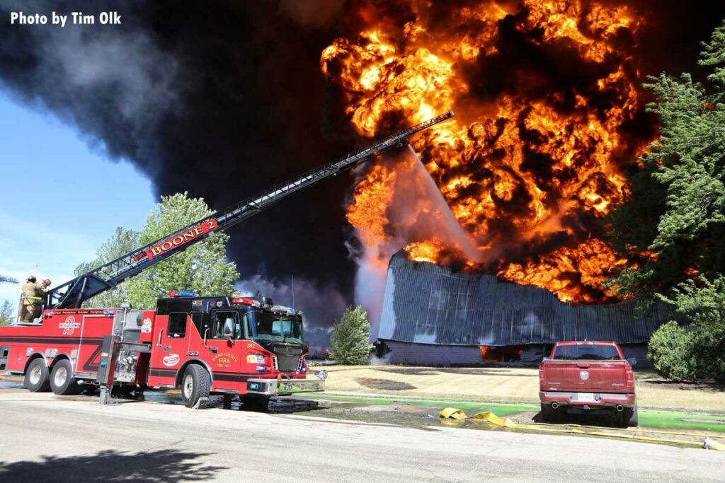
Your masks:
{"label": "long raised aerial ladder with red BOONE 2 sign", "polygon": [[175,255],[175,253],[186,250],[186,248],[199,243],[212,233],[227,230],[282,198],[309,188],[322,180],[326,180],[328,177],[333,177],[345,169],[381,156],[381,154],[395,148],[405,146],[411,135],[450,119],[453,115],[453,112],[449,111],[428,119],[426,122],[421,122],[421,124],[408,127],[379,140],[371,146],[353,151],[336,161],[312,169],[257,196],[252,196],[241,201],[241,203],[229,206],[211,217],[200,219],[187,227],[181,228],[181,230],[159,238],[159,240],[125,253],[107,264],[98,266],[49,290],[43,301],[43,309],[80,308],[81,304],[89,298],[117,287],[124,280],[143,272],[145,269],[159,263],[159,261]]}

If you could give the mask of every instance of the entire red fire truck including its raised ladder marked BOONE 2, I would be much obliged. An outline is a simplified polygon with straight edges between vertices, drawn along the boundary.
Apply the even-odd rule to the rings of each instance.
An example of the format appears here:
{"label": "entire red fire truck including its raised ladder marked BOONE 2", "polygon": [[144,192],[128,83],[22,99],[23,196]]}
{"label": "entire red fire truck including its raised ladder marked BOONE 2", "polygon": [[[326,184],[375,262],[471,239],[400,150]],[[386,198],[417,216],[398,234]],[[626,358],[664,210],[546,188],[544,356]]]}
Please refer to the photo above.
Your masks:
{"label": "entire red fire truck including its raised ladder marked BOONE 2", "polygon": [[0,327],[0,371],[23,375],[33,392],[72,395],[99,387],[101,403],[114,390],[147,387],[181,388],[188,408],[212,394],[259,402],[323,391],[323,374],[307,377],[302,314],[270,298],[173,292],[155,310],[82,308],[83,302],[292,193],[407,145],[410,135],[452,116],[389,135],[54,287],[41,317]]}

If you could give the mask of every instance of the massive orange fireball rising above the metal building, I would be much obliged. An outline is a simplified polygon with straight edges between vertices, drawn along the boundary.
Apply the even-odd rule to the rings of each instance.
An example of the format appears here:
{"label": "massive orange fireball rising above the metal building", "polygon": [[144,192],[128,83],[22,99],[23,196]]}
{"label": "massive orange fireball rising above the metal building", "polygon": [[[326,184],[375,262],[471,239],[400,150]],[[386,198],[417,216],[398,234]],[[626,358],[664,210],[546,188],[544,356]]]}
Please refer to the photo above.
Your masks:
{"label": "massive orange fireball rising above the metal building", "polygon": [[629,127],[642,109],[642,18],[612,1],[442,3],[365,4],[359,33],[337,38],[320,64],[360,135],[456,112],[412,146],[462,235],[426,229],[421,200],[392,215],[414,182],[400,175],[410,156],[370,169],[349,222],[368,248],[402,240],[413,260],[458,261],[562,301],[613,300],[602,282],[629,262],[597,219],[628,196],[621,166],[647,143]]}

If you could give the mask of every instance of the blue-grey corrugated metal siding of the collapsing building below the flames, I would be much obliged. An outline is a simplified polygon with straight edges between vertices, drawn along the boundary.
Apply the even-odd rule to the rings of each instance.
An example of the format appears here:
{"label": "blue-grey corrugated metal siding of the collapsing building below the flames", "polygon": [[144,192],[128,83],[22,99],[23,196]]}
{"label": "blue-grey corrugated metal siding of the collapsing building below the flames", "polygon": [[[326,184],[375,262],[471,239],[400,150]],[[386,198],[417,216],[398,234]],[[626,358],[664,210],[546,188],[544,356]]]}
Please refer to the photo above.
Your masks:
{"label": "blue-grey corrugated metal siding of the collapsing building below the flames", "polygon": [[663,303],[641,312],[634,301],[584,306],[548,290],[454,273],[394,256],[388,267],[377,338],[444,345],[527,345],[560,340],[647,343],[673,314]]}

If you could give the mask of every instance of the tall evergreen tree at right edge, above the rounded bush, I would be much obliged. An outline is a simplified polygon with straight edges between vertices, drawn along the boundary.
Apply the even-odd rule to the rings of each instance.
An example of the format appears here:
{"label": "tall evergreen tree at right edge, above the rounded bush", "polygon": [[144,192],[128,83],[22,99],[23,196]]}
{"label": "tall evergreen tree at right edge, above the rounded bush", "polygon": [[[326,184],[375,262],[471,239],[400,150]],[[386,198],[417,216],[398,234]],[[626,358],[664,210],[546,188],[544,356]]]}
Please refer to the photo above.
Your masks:
{"label": "tall evergreen tree at right edge, above the rounded bush", "polygon": [[616,211],[617,248],[651,251],[614,280],[624,294],[666,293],[689,278],[725,273],[725,22],[703,43],[700,64],[712,66],[708,91],[689,74],[650,77],[660,138],[640,161],[631,203]]}

